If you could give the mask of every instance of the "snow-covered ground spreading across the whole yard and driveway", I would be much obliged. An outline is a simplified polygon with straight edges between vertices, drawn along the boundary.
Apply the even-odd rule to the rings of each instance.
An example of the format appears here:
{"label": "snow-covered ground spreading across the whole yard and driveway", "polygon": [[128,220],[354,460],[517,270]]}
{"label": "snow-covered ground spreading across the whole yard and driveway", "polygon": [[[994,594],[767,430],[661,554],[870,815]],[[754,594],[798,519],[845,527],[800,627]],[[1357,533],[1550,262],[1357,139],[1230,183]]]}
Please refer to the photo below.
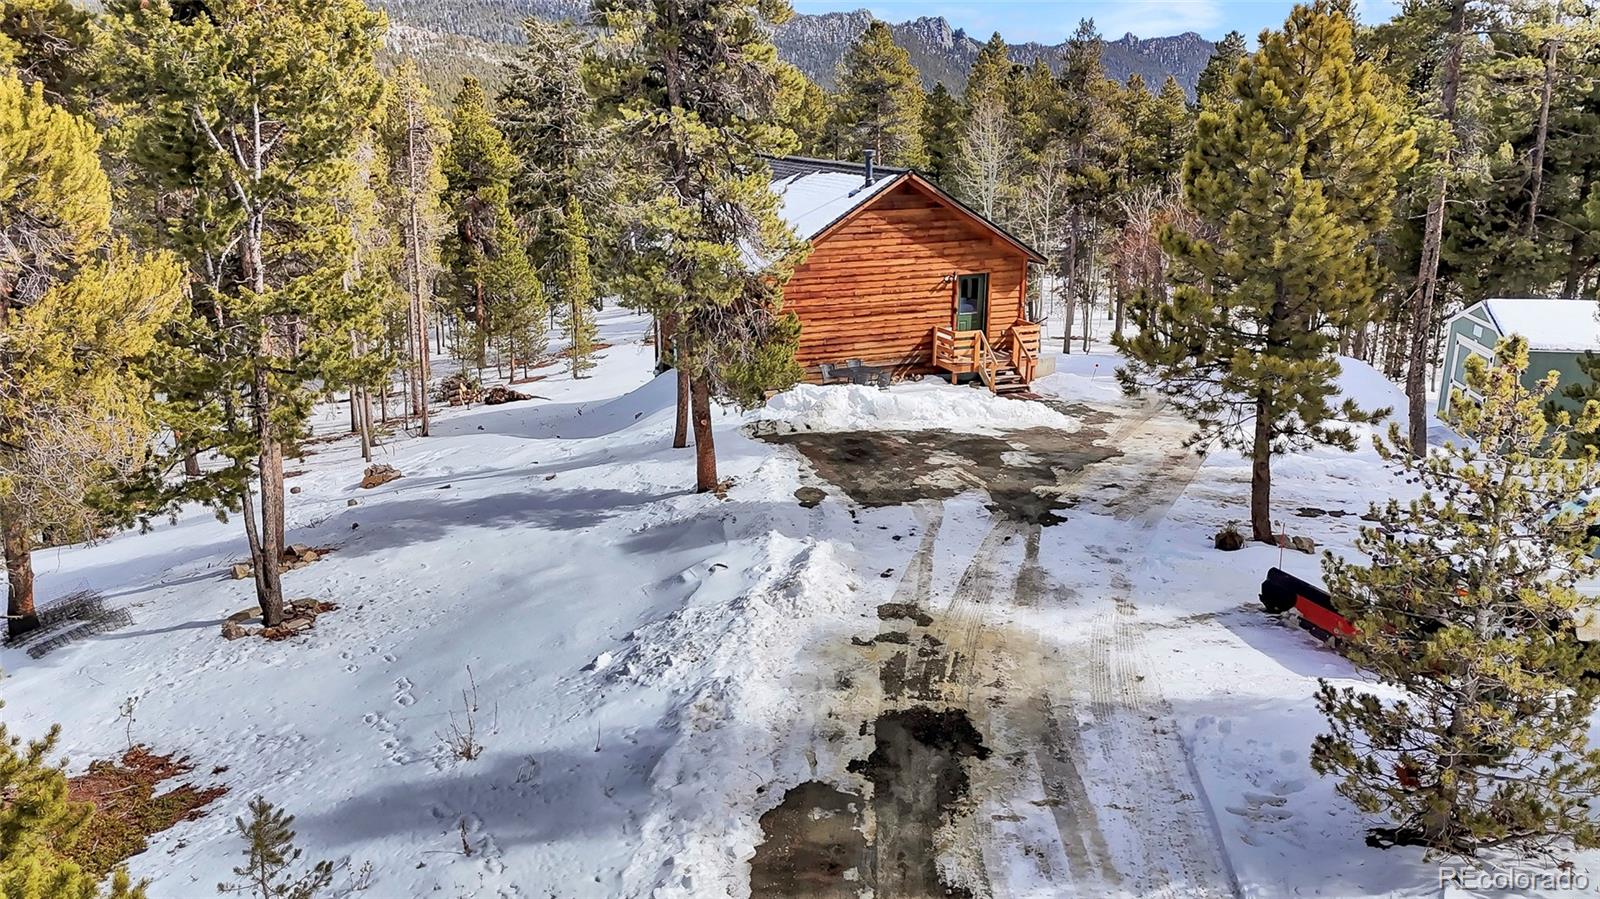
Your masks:
{"label": "snow-covered ground spreading across the whole yard and driveway", "polygon": [[[134,697],[134,741],[222,769],[200,781],[230,792],[131,861],[157,899],[232,880],[254,795],[298,816],[307,857],[371,862],[366,896],[744,896],[762,816],[806,781],[870,797],[850,763],[912,702],[958,705],[982,734],[938,833],[939,870],[979,896],[1440,894],[1437,865],[1366,848],[1307,766],[1317,678],[1358,673],[1256,593],[1269,566],[1317,577],[1318,560],[1213,550],[1245,517],[1246,462],[1182,450],[1179,419],[1120,395],[1114,355],[1059,357],[1048,405],[918,382],[725,411],[718,499],[670,448],[674,382],[651,378],[646,334],[606,312],[592,378],[549,370],[518,387],[536,400],[440,410],[434,437],[378,448],[405,473],[381,488],[357,488],[350,440],[291,462],[290,542],[336,547],[285,576],[291,598],[339,603],[304,637],[221,640],[253,587],[227,573],[240,523],[203,509],[40,552],[46,603],[98,590],[133,624],[0,651],[0,713],[24,736],[59,721],[77,769],[120,753]],[[1344,382],[1398,405],[1360,363]],[[933,446],[947,477],[928,483],[960,489],[858,502],[752,437],[869,430]],[[939,445],[1010,434],[1115,454],[1062,470],[1062,521],[1011,520]],[[1037,446],[1000,457],[1035,464]],[[1286,529],[1334,550],[1398,489],[1370,446],[1275,473]],[[826,499],[802,505],[802,486]],[[891,600],[926,624],[885,619]],[[923,683],[886,678],[894,640],[923,637]],[[469,678],[470,761],[445,745]],[[880,897],[906,894],[878,875]]]}

